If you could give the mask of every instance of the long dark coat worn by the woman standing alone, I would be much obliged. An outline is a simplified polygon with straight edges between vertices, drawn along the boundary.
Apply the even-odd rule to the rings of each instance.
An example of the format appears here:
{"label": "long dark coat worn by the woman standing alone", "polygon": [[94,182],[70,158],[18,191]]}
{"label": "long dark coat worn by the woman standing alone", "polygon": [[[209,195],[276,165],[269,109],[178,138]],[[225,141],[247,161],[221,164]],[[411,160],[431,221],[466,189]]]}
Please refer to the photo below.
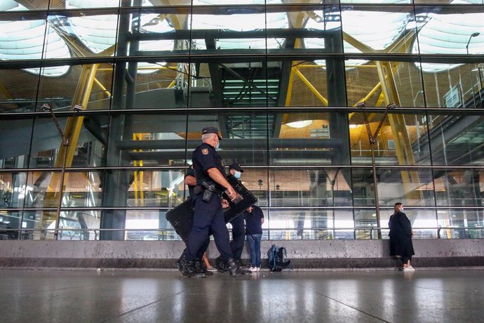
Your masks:
{"label": "long dark coat worn by the woman standing alone", "polygon": [[415,255],[412,244],[412,224],[403,212],[390,216],[390,254],[391,256]]}

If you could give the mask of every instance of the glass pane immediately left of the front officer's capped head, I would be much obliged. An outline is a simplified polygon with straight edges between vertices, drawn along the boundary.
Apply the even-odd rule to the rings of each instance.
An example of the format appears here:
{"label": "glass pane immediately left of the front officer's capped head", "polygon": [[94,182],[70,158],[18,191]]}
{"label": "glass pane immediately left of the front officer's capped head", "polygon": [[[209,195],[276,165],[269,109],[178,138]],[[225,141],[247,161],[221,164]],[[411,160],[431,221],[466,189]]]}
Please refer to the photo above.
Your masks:
{"label": "glass pane immediately left of the front officer's capped head", "polygon": [[[116,114],[111,117],[108,166],[185,165],[187,117],[183,114]],[[203,128],[203,127],[201,127]],[[197,129],[197,139],[201,138]],[[191,139],[188,136],[189,139]],[[193,150],[198,141],[189,141]],[[191,156],[189,157],[191,159]]]}

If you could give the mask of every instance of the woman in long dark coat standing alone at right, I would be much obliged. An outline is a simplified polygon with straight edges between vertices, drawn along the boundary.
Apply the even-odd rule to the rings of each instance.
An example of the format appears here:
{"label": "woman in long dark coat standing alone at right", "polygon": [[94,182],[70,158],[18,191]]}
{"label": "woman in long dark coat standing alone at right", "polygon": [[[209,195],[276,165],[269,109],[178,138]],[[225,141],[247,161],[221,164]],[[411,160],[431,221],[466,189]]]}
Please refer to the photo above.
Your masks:
{"label": "woman in long dark coat standing alone at right", "polygon": [[390,216],[388,227],[391,256],[401,256],[403,270],[415,270],[412,267],[412,256],[415,255],[412,244],[412,224],[403,213],[402,203],[395,204],[394,214]]}

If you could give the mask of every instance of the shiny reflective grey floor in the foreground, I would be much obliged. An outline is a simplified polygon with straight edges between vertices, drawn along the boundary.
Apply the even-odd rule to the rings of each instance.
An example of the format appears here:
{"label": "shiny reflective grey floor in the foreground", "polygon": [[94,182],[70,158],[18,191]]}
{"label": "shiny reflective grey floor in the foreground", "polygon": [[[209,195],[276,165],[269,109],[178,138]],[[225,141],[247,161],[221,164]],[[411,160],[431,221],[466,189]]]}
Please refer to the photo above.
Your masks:
{"label": "shiny reflective grey floor in the foreground", "polygon": [[0,270],[1,322],[483,322],[484,270]]}

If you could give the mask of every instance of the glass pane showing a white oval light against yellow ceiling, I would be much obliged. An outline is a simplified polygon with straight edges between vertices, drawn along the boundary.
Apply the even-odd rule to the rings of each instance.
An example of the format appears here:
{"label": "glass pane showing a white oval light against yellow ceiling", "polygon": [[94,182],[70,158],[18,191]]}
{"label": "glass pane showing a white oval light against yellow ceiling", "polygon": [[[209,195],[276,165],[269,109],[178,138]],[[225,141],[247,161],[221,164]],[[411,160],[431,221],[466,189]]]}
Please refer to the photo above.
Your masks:
{"label": "glass pane showing a white oval light against yellow ceiling", "polygon": [[349,164],[346,113],[277,112],[269,134],[271,164]]}

